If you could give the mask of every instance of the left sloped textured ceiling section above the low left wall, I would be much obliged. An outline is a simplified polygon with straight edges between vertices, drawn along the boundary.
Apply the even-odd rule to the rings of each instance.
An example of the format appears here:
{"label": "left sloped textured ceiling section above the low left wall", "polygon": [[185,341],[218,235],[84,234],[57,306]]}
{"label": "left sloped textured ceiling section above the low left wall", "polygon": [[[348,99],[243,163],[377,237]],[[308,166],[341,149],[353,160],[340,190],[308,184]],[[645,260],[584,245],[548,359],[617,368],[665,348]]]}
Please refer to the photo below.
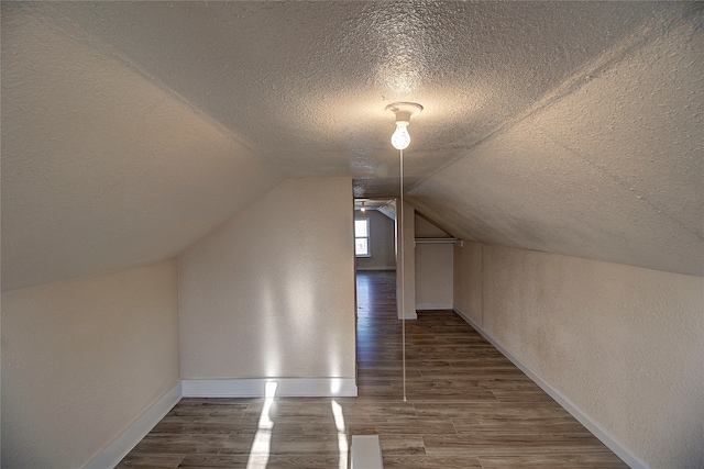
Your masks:
{"label": "left sloped textured ceiling section above the low left wall", "polygon": [[3,290],[173,257],[283,180],[114,51],[2,8]]}

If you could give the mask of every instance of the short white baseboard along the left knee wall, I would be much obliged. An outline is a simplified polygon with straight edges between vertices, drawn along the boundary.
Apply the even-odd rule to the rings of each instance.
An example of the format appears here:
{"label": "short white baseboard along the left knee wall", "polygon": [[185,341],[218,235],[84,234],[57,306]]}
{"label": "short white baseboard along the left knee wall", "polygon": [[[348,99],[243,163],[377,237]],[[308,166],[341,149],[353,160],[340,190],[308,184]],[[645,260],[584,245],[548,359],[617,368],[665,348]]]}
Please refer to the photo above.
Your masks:
{"label": "short white baseboard along the left knee wall", "polygon": [[84,469],[105,469],[116,467],[138,443],[180,401],[180,381],[166,394],[140,415],[124,432],[118,435],[96,457],[82,466]]}

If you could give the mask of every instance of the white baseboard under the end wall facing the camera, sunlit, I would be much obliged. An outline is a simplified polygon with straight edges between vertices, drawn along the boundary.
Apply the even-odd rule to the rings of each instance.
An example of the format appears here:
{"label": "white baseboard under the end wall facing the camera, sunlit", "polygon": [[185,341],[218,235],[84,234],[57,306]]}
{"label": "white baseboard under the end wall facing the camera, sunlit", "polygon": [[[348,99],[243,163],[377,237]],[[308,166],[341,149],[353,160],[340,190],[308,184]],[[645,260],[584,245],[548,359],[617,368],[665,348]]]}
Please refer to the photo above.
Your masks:
{"label": "white baseboard under the end wall facing the camera, sunlit", "polygon": [[264,398],[266,383],[276,382],[279,398],[356,397],[354,378],[185,379],[184,398]]}

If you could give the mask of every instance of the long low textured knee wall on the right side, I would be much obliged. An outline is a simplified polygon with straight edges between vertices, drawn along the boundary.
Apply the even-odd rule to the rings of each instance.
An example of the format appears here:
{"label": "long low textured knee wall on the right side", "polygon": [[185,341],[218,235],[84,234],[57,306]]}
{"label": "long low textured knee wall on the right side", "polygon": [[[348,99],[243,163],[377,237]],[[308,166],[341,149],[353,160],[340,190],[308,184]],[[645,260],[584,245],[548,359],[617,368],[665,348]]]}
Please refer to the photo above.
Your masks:
{"label": "long low textured knee wall on the right side", "polygon": [[704,467],[704,279],[464,246],[459,311],[650,467]]}

